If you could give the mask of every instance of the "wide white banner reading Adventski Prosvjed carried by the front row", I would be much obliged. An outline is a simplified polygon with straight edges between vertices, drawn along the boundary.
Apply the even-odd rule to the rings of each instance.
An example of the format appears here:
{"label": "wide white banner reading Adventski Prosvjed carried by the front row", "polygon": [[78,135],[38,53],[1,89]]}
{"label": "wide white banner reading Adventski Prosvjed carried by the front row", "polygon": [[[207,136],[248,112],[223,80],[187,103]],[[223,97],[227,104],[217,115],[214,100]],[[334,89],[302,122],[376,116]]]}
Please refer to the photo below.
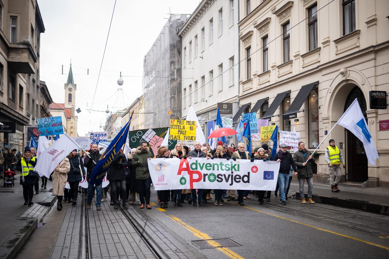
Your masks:
{"label": "wide white banner reading Adventski Prosvjed carried by the front row", "polygon": [[147,161],[156,190],[239,189],[274,191],[280,163],[237,159],[165,159]]}

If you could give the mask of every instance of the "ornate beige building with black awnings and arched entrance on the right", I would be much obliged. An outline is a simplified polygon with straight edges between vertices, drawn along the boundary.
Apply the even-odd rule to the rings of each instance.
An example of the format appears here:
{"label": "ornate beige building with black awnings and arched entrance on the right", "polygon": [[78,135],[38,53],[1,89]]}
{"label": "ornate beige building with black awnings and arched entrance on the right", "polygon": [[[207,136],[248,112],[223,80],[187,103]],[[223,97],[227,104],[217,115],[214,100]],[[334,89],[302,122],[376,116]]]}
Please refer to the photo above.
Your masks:
{"label": "ornate beige building with black awnings and arched entrance on the right", "polygon": [[[343,180],[389,186],[388,108],[370,108],[369,91],[389,91],[386,0],[240,1],[240,112],[257,101],[258,118],[300,132],[310,150],[357,98],[377,147],[368,164],[361,142],[336,126],[318,149],[316,181],[326,182],[324,151],[335,139]],[[256,143],[259,145],[261,143]]]}

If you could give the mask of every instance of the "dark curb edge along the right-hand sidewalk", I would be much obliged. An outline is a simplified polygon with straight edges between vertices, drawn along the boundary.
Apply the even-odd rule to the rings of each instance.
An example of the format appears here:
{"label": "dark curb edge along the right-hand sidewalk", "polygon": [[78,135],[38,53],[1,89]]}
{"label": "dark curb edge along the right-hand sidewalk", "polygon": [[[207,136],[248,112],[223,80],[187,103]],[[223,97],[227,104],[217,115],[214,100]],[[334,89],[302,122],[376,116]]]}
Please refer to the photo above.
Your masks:
{"label": "dark curb edge along the right-hand sidewalk", "polygon": [[[300,200],[300,193],[296,192],[295,197],[297,200]],[[305,194],[305,198],[308,198],[307,194]],[[338,197],[320,196],[317,194],[312,194],[312,200],[319,203],[389,215],[389,205],[375,204],[368,201],[342,199]]]}

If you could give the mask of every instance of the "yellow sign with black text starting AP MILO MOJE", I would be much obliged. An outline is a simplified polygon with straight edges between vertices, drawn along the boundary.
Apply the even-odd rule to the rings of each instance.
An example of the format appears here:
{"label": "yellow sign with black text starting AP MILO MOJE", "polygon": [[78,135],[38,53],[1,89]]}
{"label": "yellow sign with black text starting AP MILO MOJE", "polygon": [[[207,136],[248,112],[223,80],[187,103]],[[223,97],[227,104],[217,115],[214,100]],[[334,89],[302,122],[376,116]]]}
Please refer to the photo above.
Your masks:
{"label": "yellow sign with black text starting AP MILO MOJE", "polygon": [[170,120],[171,140],[196,140],[196,121]]}

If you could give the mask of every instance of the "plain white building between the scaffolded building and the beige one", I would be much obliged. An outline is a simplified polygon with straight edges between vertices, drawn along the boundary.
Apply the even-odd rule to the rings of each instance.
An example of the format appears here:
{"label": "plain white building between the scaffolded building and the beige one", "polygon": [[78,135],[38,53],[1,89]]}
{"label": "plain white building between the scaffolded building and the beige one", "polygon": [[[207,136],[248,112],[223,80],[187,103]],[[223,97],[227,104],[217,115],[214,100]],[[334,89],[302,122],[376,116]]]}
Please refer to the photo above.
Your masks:
{"label": "plain white building between the scaffolded building and the beige one", "polygon": [[203,0],[182,26],[182,117],[193,107],[205,138],[215,128],[217,103],[238,110],[238,0]]}

